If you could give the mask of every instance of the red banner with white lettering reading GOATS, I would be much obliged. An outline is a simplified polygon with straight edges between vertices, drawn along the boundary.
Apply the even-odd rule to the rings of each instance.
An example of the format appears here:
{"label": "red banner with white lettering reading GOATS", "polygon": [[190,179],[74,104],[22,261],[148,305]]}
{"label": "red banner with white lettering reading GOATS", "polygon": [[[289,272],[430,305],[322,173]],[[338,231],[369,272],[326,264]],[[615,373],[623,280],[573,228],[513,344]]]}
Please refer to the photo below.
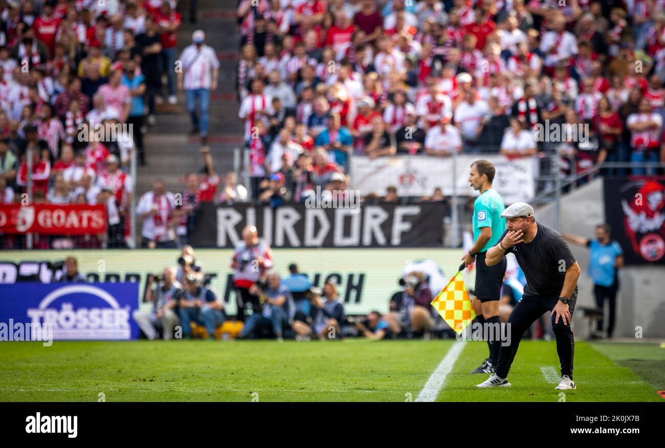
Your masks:
{"label": "red banner with white lettering reading GOATS", "polygon": [[106,207],[79,204],[2,204],[0,232],[43,235],[103,234],[106,233]]}

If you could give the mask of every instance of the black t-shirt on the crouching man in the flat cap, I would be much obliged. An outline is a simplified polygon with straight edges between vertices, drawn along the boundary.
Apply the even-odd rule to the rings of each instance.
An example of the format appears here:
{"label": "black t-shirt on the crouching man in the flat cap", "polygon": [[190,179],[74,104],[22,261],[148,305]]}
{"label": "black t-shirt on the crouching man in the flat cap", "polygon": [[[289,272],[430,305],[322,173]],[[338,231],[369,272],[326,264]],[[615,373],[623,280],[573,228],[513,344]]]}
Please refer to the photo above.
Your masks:
{"label": "black t-shirt on the crouching man in the flat cap", "polygon": [[[525,294],[552,297],[561,293],[566,269],[575,263],[575,257],[559,232],[539,222],[536,225],[538,232],[532,242],[512,246],[506,254],[515,254],[527,277]],[[506,229],[499,241],[508,232]]]}

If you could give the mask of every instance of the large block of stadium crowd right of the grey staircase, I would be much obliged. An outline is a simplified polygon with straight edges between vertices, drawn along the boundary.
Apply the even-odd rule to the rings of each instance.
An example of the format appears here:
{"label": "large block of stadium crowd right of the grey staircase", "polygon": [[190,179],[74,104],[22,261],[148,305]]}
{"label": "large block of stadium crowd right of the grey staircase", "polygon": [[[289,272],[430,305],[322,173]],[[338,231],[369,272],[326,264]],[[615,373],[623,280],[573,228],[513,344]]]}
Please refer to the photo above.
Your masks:
{"label": "large block of stadium crowd right of the grey staircase", "polygon": [[[253,198],[344,190],[350,155],[558,154],[564,173],[664,161],[663,2],[560,3],[241,0]],[[543,141],[539,123],[588,138]]]}

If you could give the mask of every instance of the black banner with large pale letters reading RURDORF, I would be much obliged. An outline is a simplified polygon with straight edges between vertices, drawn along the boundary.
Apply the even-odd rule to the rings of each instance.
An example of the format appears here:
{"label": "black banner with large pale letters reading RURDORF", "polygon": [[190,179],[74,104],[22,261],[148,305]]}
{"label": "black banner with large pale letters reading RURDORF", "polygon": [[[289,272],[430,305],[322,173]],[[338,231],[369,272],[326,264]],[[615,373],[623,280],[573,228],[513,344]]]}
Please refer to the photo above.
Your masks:
{"label": "black banner with large pale letters reading RURDORF", "polygon": [[191,244],[232,248],[255,225],[273,248],[442,246],[444,204],[378,204],[332,208],[293,202],[278,208],[201,202]]}

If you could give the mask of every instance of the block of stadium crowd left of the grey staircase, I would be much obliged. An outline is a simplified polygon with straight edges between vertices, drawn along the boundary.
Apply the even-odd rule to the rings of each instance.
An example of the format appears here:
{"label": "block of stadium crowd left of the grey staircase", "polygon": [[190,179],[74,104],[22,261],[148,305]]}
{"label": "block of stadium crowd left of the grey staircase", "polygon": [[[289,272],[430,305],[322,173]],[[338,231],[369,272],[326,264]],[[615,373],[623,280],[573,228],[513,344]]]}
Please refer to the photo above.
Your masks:
{"label": "block of stadium crowd left of the grey staircase", "polygon": [[104,204],[108,216],[105,235],[33,234],[33,248],[133,246],[130,158],[145,164],[156,105],[178,102],[177,3],[0,0],[0,203]]}

